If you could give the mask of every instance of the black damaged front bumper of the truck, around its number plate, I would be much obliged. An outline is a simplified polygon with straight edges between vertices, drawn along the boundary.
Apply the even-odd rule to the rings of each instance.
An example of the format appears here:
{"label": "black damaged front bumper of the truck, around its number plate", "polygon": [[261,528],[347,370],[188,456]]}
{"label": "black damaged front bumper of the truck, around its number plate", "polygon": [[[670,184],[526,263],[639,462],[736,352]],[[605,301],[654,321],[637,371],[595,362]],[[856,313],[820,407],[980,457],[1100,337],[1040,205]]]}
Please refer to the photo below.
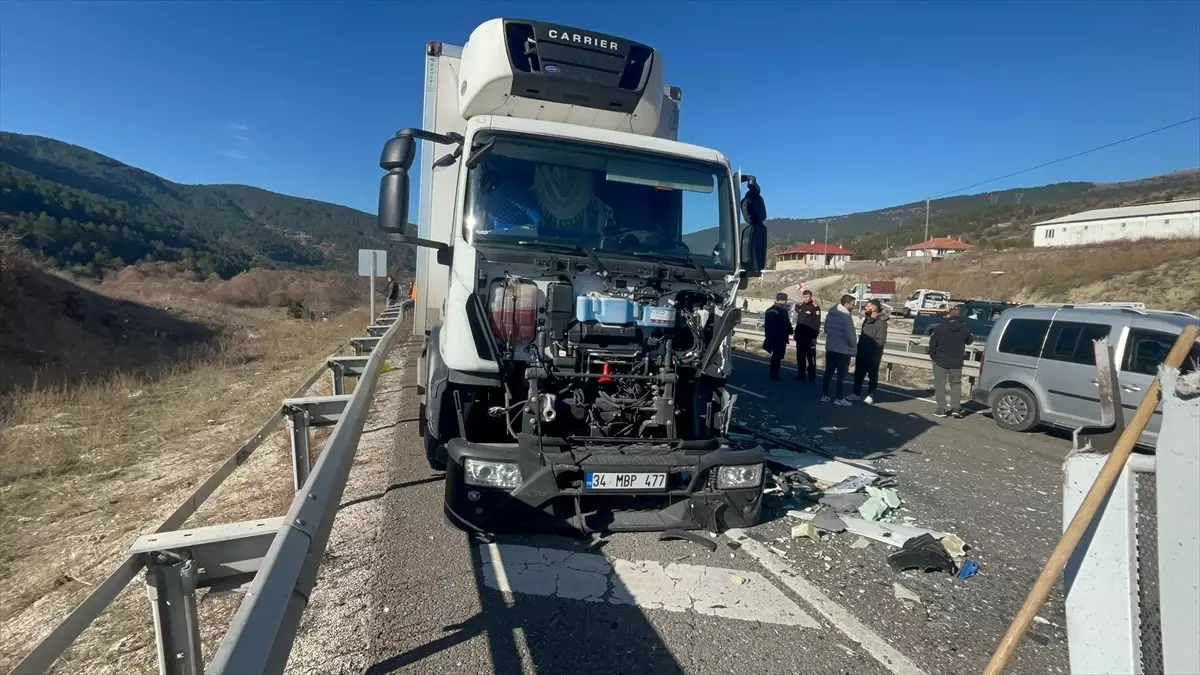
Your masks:
{"label": "black damaged front bumper of the truck, around its number plate", "polygon": [[[762,513],[763,454],[760,449],[546,448],[517,443],[446,443],[445,513],[469,532],[647,532],[670,528],[721,531],[749,527]],[[467,464],[472,462],[472,476]],[[486,462],[486,464],[480,464]],[[502,471],[509,486],[479,483],[480,466]],[[757,483],[719,485],[722,467]],[[602,489],[604,474],[612,489]],[[492,476],[492,474],[490,474]],[[634,484],[622,480],[638,476]],[[614,484],[616,483],[616,484]]]}

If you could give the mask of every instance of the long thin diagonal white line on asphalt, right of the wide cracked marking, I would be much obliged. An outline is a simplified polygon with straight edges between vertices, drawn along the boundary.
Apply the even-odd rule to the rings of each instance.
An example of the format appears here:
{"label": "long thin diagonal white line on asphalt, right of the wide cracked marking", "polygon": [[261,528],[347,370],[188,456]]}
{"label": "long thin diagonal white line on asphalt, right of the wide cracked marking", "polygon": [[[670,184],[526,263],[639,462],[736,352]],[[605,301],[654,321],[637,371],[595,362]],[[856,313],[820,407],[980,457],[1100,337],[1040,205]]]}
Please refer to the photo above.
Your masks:
{"label": "long thin diagonal white line on asphalt, right of the wide cracked marking", "polygon": [[847,638],[862,645],[866,650],[866,653],[871,655],[875,661],[878,661],[889,671],[895,675],[926,675],[912,659],[900,653],[887,640],[856,619],[848,609],[838,604],[829,596],[824,595],[821,589],[812,585],[811,581],[792,572],[784,558],[767,550],[767,546],[757,539],[750,538],[745,531],[728,530],[725,532],[725,536],[742,544],[740,550],[755,558],[767,572],[774,574],[776,579],[782,581],[800,599],[809,603],[826,621],[833,623]]}

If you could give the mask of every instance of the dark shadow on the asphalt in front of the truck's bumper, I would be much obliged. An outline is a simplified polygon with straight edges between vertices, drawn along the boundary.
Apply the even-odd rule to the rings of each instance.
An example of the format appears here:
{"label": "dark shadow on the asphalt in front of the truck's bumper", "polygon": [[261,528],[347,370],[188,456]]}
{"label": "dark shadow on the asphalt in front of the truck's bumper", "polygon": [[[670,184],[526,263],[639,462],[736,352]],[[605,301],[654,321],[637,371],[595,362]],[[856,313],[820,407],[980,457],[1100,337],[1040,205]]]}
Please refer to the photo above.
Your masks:
{"label": "dark shadow on the asphalt in front of the truck's bumper", "polygon": [[630,591],[607,558],[583,540],[538,539],[541,546],[526,537],[468,539],[480,611],[366,673],[395,673],[479,635],[487,639],[493,673],[683,673],[642,610],[626,604]]}

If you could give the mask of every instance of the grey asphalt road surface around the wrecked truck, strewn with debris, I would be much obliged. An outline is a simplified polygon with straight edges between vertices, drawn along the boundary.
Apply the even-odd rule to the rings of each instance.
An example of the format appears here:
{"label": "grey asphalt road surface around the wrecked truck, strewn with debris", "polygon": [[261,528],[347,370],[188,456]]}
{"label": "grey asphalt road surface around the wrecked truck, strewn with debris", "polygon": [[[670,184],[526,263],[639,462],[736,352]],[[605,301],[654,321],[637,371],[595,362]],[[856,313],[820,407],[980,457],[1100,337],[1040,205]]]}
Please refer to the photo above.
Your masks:
{"label": "grey asphalt road surface around the wrecked truck, strewn with debris", "polygon": [[[745,532],[761,546],[722,537],[709,551],[653,533],[590,548],[474,542],[442,514],[409,345],[380,376],[376,431],[360,443],[290,673],[977,673],[1057,538],[1069,442],[979,416],[935,423],[928,404],[889,394],[870,410],[821,406],[811,386],[767,382],[764,365],[739,359],[734,383],[766,396],[742,398],[740,423],[895,471],[904,515],[961,536],[980,574],[898,575],[882,544],[852,549],[850,534],[792,540],[782,513],[794,507],[781,501]],[[748,549],[776,552],[763,565]],[[895,599],[894,581],[922,604]],[[1061,596],[1043,616],[1051,623],[1010,673],[1067,670]]]}

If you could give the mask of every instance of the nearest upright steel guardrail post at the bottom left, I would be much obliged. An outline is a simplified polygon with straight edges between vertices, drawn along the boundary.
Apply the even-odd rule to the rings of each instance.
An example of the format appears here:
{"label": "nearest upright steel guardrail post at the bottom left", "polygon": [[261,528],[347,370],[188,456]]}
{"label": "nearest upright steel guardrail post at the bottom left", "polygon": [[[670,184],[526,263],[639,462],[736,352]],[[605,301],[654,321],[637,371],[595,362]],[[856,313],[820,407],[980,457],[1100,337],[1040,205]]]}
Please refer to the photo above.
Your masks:
{"label": "nearest upright steel guardrail post at the bottom left", "polygon": [[146,568],[158,671],[163,675],[204,675],[196,572],[193,561],[173,560],[163,554],[154,556]]}

